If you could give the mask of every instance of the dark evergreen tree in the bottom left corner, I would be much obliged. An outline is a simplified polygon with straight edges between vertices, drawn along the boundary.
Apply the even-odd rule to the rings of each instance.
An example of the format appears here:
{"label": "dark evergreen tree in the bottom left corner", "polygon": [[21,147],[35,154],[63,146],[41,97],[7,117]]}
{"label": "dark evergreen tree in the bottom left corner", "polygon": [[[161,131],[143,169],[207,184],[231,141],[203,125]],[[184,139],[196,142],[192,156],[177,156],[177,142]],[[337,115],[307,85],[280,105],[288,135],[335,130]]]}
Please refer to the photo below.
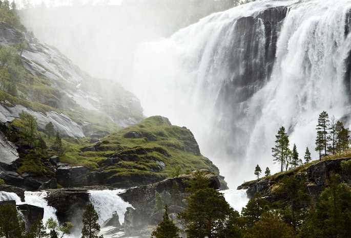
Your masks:
{"label": "dark evergreen tree in the bottom left corner", "polygon": [[22,238],[26,225],[12,204],[0,206],[0,237]]}

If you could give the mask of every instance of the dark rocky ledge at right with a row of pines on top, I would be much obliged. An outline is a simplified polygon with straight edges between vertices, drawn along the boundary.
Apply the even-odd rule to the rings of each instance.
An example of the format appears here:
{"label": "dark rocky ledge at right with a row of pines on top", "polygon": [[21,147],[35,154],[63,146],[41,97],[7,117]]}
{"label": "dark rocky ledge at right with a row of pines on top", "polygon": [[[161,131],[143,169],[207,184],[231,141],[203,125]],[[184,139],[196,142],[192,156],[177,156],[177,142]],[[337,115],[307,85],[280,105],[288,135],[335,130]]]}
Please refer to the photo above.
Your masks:
{"label": "dark rocky ledge at right with a row of pines on top", "polygon": [[[341,176],[342,182],[351,184],[351,175],[343,171],[340,165],[341,161],[347,161],[349,159],[351,158],[320,161],[301,169],[296,176],[305,182],[306,192],[311,195],[314,201],[316,201],[320,196],[322,188],[328,186],[328,180],[330,179],[332,171],[335,171]],[[262,178],[259,181],[253,181],[250,184],[244,183],[239,186],[238,189],[247,189],[246,192],[249,198],[254,197],[255,192],[258,191],[267,200],[271,202],[278,201],[281,198],[274,193],[273,185],[277,184],[285,175],[293,176],[295,173],[296,169],[288,170],[277,176]]]}

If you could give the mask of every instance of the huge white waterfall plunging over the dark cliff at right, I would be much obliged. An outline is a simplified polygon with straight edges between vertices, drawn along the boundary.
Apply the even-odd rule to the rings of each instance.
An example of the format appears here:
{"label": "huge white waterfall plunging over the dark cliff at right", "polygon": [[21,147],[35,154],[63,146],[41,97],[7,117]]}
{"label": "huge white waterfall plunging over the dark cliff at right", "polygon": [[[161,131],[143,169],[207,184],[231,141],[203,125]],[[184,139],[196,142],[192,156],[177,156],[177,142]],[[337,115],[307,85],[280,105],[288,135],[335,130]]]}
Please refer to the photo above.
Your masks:
{"label": "huge white waterfall plunging over the dark cliff at right", "polygon": [[[287,12],[277,23],[273,64],[263,65],[272,70],[262,70],[267,25],[260,14],[278,6]],[[277,172],[271,148],[279,127],[303,158],[307,146],[314,152],[322,111],[337,120],[350,112],[344,81],[350,9],[350,0],[260,1],[212,14],[170,38],[140,45],[129,89],[147,116],[190,128],[230,187],[254,179],[256,164]],[[250,16],[257,18],[254,40],[245,28]]]}

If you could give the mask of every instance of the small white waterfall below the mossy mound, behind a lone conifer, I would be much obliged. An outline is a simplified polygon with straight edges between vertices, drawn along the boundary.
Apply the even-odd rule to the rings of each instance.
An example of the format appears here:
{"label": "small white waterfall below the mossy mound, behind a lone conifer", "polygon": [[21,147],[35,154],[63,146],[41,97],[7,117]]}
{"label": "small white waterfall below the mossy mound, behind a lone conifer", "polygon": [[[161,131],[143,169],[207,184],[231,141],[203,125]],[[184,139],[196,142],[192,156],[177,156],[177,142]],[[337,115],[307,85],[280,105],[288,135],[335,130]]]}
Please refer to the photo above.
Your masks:
{"label": "small white waterfall below the mossy mound, behind a lone conifer", "polygon": [[132,207],[132,205],[117,196],[118,193],[123,191],[125,190],[89,190],[89,200],[99,215],[100,225],[112,217],[113,211],[117,211],[119,223],[122,224],[124,222],[127,207]]}

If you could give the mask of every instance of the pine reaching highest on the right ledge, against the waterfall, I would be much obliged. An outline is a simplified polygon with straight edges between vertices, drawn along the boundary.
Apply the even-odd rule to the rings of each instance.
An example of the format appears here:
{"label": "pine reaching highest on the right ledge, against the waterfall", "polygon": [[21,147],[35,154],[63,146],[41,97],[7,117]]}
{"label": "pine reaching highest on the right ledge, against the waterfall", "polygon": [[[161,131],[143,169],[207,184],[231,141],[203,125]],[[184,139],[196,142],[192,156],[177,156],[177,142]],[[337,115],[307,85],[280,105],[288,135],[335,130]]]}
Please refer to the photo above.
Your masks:
{"label": "pine reaching highest on the right ledge, against the waterfall", "polygon": [[329,128],[329,116],[323,111],[319,114],[317,124],[317,139],[316,139],[316,151],[319,151],[319,160],[321,160],[321,152],[324,150],[324,156],[327,155],[326,148],[328,146],[328,132]]}

